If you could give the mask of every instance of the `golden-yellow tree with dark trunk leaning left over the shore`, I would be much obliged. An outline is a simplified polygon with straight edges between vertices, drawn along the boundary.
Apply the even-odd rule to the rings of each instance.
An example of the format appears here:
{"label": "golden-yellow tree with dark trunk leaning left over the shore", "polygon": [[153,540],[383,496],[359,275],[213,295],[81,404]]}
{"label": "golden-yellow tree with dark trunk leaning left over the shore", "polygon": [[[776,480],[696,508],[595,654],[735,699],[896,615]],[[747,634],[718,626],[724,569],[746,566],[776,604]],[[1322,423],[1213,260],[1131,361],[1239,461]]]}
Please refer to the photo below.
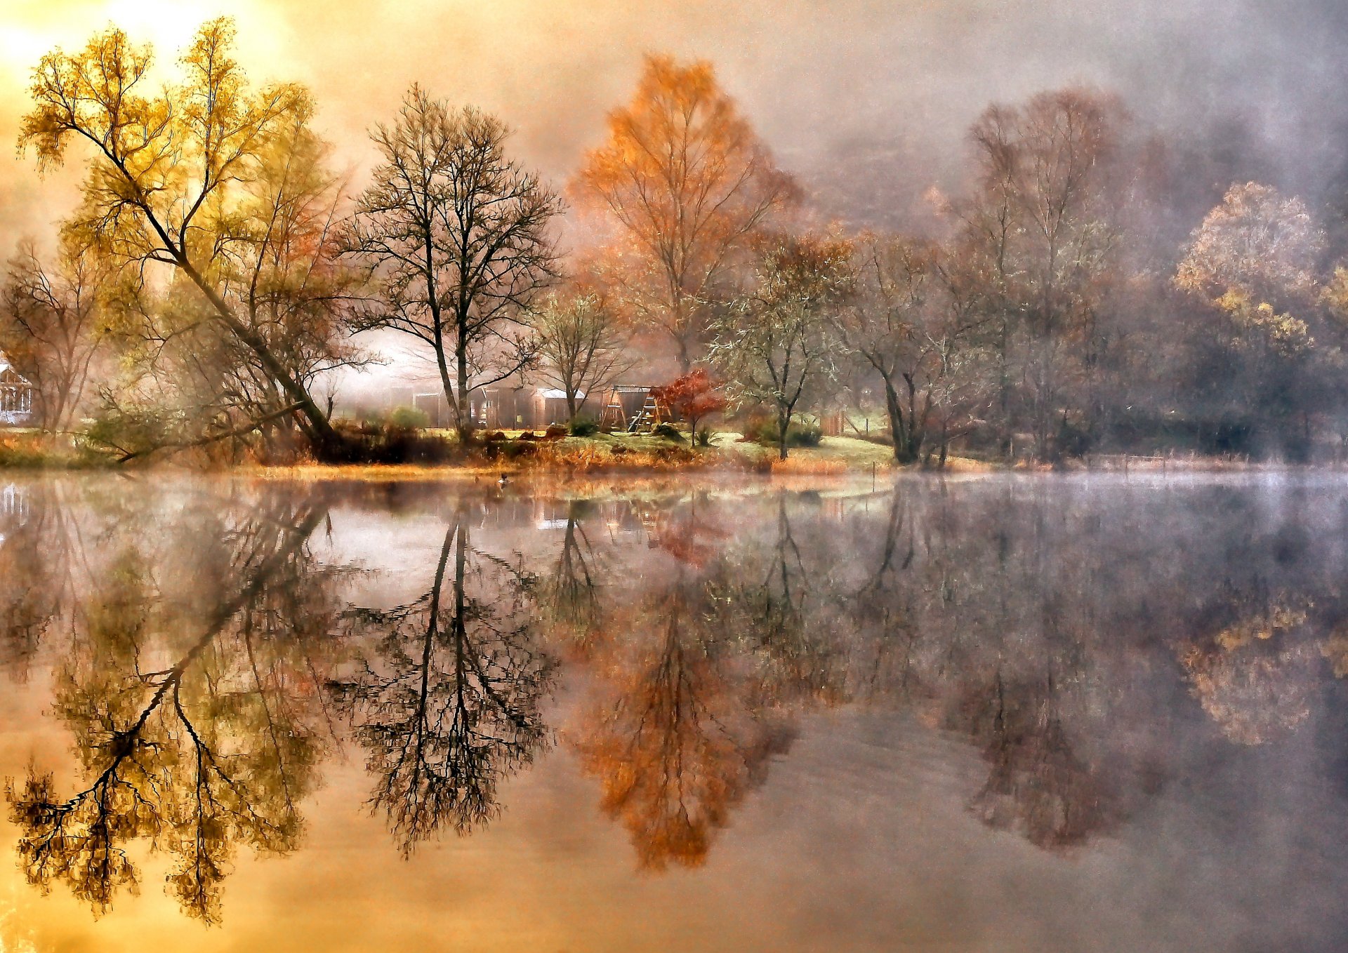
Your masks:
{"label": "golden-yellow tree with dark trunk leaning left over the shore", "polygon": [[160,264],[195,287],[205,315],[249,353],[266,387],[284,395],[314,446],[333,456],[341,441],[306,386],[306,368],[274,340],[267,309],[233,280],[241,249],[267,244],[251,186],[275,163],[278,142],[297,137],[297,124],[302,131],[313,104],[294,84],[252,89],[233,42],[228,18],[202,26],[178,61],[181,82],[158,93],[147,89],[150,47],[121,30],[94,35],[75,54],[54,50],[34,70],[19,146],[32,147],[46,168],[71,142],[85,143],[92,160],[74,225],[133,271]]}

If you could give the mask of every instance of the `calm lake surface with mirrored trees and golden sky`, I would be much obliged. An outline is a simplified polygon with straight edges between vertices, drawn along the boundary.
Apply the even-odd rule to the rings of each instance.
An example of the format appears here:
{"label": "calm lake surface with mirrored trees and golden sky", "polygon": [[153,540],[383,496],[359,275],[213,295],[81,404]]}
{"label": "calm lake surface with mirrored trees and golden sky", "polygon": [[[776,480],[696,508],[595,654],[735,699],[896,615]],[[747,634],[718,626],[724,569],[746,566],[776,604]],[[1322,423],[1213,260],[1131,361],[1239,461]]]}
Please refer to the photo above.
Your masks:
{"label": "calm lake surface with mirrored trees and golden sky", "polygon": [[0,480],[0,950],[1343,950],[1348,480]]}

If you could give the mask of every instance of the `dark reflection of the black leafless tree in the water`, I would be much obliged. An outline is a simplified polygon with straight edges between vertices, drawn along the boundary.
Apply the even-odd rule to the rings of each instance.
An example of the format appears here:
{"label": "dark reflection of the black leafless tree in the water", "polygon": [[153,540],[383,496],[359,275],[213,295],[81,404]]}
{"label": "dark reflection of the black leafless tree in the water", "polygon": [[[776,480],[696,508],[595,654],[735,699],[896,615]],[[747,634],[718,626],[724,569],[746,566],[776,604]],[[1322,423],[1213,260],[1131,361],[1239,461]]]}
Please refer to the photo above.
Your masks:
{"label": "dark reflection of the black leafless tree in the water", "polygon": [[473,550],[460,520],[445,534],[430,592],[391,612],[352,615],[386,635],[376,659],[332,687],[368,752],[371,806],[387,814],[404,853],[442,825],[462,834],[492,818],[497,782],[547,740],[539,704],[553,662],[532,644],[530,584]]}

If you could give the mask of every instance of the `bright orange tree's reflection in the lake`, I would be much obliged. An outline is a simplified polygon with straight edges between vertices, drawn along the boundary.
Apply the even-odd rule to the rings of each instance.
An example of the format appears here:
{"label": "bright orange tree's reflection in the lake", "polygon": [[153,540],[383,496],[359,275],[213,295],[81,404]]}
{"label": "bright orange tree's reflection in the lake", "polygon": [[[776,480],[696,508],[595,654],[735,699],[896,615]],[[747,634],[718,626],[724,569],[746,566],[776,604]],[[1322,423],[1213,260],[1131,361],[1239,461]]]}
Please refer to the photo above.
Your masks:
{"label": "bright orange tree's reflection in the lake", "polygon": [[745,659],[686,570],[613,631],[631,635],[604,644],[607,698],[582,716],[574,747],[643,867],[696,867],[791,732],[752,706]]}

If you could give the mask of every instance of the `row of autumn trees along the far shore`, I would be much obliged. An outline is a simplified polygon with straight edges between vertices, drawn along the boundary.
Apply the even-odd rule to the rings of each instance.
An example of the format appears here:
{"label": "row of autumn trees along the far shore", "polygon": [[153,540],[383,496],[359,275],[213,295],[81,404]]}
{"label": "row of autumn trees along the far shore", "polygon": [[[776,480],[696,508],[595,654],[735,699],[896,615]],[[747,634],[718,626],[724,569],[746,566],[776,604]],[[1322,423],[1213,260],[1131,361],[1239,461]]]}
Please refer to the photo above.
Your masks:
{"label": "row of autumn trees along the far shore", "polygon": [[58,252],[26,243],[0,303],[49,430],[360,458],[333,380],[391,329],[434,359],[465,446],[477,388],[538,381],[593,417],[586,395],[675,365],[779,433],[883,414],[900,462],[1309,461],[1348,438],[1340,213],[1258,182],[1185,212],[1185,160],[1108,93],[989,106],[967,186],[929,195],[937,233],[857,233],[821,224],[705,62],[647,58],[554,189],[499,119],[419,86],[344,182],[309,92],[249,85],[232,51],[208,23],[151,89],[148,47],[111,28],[34,70],[20,148],[88,166]]}

